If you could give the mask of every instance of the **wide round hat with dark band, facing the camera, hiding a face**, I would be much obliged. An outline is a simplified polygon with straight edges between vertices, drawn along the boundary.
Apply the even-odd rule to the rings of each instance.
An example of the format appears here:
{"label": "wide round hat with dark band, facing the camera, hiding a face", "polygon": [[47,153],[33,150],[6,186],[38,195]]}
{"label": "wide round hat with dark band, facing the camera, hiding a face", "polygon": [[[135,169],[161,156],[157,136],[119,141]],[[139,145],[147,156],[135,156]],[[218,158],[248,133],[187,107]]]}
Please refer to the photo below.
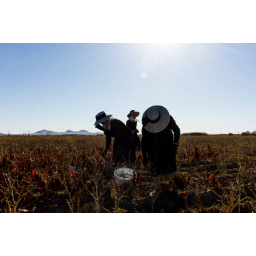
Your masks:
{"label": "wide round hat with dark band, facing the camera, hiding a face", "polygon": [[142,125],[148,132],[161,132],[170,122],[170,114],[163,106],[152,106],[142,116]]}

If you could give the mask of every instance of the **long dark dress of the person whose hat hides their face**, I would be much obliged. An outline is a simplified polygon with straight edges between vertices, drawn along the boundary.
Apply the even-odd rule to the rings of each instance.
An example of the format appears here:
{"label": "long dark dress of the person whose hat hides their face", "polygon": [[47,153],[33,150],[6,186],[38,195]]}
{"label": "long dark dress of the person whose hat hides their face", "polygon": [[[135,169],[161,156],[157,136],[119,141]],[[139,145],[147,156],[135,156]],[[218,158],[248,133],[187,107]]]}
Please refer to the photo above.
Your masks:
{"label": "long dark dress of the person whose hat hides their face", "polygon": [[179,139],[180,129],[172,116],[168,126],[161,132],[148,132],[142,127],[141,150],[143,157],[147,157],[148,154],[153,177],[177,171],[177,146],[173,143],[178,143]]}

